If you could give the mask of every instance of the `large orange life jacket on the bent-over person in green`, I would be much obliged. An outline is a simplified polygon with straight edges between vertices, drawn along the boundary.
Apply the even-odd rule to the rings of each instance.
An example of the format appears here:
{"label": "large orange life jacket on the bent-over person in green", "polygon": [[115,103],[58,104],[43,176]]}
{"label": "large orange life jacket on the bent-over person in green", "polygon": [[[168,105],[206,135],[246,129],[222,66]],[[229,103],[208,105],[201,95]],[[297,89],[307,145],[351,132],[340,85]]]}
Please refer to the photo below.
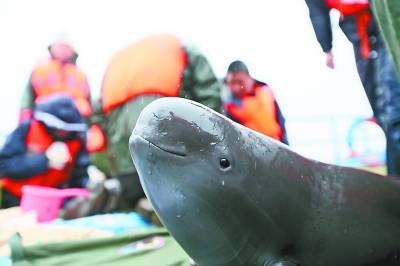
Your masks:
{"label": "large orange life jacket on the bent-over person in green", "polygon": [[103,111],[139,96],[179,96],[186,54],[174,36],[147,37],[116,53],[102,86]]}

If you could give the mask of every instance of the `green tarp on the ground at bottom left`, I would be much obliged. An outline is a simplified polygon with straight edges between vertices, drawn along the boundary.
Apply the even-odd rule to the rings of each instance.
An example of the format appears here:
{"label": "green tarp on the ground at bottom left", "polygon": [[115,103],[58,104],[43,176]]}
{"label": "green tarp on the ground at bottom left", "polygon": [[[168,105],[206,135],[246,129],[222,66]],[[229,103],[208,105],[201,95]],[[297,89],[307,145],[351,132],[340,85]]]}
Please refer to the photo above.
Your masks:
{"label": "green tarp on the ground at bottom left", "polygon": [[23,247],[10,240],[14,266],[189,266],[189,257],[164,229],[101,239]]}

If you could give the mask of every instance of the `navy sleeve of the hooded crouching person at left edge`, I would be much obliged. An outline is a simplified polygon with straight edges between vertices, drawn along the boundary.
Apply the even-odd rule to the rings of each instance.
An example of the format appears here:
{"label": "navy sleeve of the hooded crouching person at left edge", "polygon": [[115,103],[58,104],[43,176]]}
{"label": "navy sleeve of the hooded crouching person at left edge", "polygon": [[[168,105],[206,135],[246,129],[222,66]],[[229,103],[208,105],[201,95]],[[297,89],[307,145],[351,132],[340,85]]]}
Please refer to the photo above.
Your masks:
{"label": "navy sleeve of the hooded crouching person at left edge", "polygon": [[0,176],[12,179],[29,178],[48,170],[45,153],[27,153],[25,137],[29,122],[20,124],[0,150]]}

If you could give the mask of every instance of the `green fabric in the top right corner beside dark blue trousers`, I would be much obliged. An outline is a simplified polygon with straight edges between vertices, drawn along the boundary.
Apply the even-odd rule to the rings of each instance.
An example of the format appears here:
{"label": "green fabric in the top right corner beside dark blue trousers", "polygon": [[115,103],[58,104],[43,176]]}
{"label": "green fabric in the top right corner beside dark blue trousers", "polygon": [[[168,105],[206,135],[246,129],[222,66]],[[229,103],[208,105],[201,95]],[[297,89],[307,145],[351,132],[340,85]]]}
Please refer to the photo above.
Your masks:
{"label": "green fabric in the top right corner beside dark blue trousers", "polygon": [[400,75],[400,0],[371,0],[385,42]]}

